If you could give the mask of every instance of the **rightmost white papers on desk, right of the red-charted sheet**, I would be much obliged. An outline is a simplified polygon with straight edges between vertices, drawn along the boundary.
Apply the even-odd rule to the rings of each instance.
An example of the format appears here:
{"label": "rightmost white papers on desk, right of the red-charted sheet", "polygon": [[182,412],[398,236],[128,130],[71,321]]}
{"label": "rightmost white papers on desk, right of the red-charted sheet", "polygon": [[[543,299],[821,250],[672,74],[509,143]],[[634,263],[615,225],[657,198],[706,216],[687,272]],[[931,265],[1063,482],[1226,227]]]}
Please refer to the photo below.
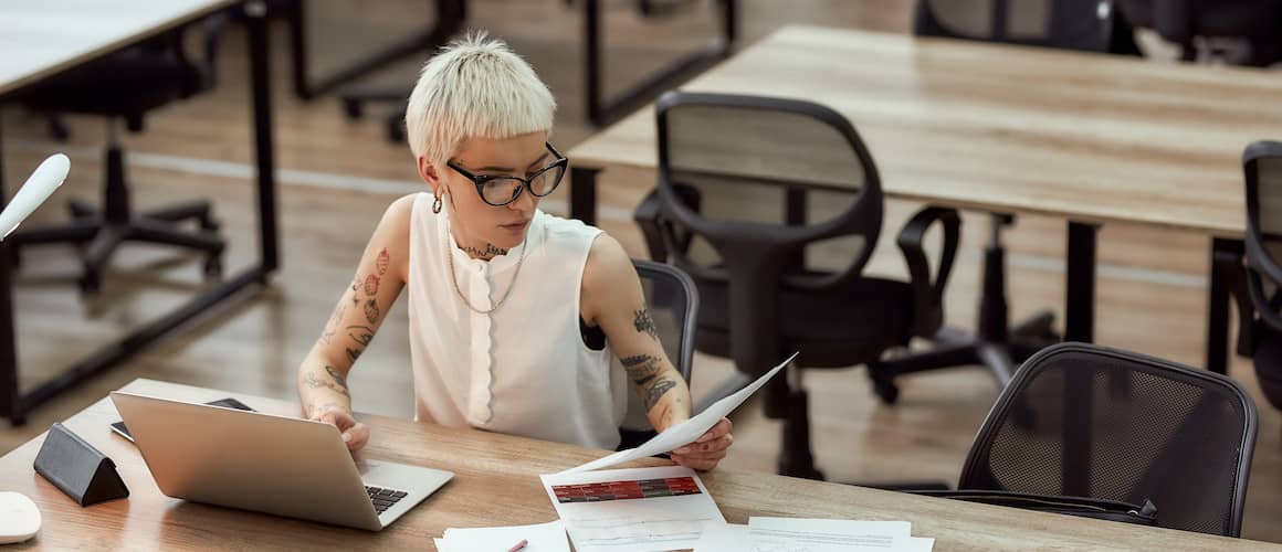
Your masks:
{"label": "rightmost white papers on desk, right of the red-charted sheet", "polygon": [[931,552],[935,539],[912,537],[908,521],[750,517],[747,525],[708,528],[695,552]]}

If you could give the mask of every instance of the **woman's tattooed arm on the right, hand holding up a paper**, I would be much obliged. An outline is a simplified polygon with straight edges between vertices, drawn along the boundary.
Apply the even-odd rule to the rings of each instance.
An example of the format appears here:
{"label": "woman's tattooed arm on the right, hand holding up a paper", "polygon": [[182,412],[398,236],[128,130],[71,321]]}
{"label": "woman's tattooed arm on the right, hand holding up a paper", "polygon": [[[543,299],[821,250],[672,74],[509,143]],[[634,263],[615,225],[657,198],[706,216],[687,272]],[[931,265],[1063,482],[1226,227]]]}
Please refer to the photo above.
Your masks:
{"label": "woman's tattooed arm on the right, hand holding up a paper", "polygon": [[[650,424],[663,432],[690,419],[690,388],[659,342],[632,259],[608,234],[597,237],[587,255],[581,302],[583,321],[605,332],[644,401]],[[722,420],[697,443],[673,451],[672,459],[688,467],[712,469],[733,442],[729,430],[729,420]]]}

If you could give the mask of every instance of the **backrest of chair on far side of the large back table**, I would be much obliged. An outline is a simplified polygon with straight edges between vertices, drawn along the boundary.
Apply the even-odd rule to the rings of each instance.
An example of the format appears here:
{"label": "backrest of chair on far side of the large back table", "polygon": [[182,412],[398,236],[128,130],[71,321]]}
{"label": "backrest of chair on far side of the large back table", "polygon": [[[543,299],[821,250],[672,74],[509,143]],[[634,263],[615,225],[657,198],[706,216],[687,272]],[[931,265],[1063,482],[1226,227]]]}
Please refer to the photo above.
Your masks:
{"label": "backrest of chair on far side of the large back table", "polygon": [[1111,0],[918,0],[913,33],[1108,51]]}

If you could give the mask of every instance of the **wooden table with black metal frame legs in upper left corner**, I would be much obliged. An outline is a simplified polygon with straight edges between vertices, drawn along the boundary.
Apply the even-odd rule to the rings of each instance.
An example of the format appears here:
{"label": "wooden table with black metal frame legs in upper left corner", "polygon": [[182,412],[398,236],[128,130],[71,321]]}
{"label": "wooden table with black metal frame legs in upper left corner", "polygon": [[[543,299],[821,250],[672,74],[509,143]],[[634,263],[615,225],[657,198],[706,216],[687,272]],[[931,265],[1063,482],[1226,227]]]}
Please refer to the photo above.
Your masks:
{"label": "wooden table with black metal frame legs in upper left corner", "polygon": [[[129,47],[219,10],[244,5],[249,29],[251,101],[246,109],[254,126],[259,223],[259,260],[228,275],[173,311],[131,330],[92,356],[67,368],[59,377],[22,393],[14,341],[10,264],[0,263],[0,416],[24,421],[36,405],[140,352],[174,332],[187,320],[232,297],[238,291],[267,283],[279,265],[277,255],[276,164],[272,138],[272,101],[268,78],[267,8],[263,0],[40,0],[0,1],[0,105],[24,87]],[[0,147],[3,151],[3,147]],[[73,169],[74,170],[74,169]],[[0,164],[0,205],[4,170]],[[47,209],[47,207],[46,207]],[[9,255],[0,245],[0,257]],[[71,292],[71,291],[68,291]]]}

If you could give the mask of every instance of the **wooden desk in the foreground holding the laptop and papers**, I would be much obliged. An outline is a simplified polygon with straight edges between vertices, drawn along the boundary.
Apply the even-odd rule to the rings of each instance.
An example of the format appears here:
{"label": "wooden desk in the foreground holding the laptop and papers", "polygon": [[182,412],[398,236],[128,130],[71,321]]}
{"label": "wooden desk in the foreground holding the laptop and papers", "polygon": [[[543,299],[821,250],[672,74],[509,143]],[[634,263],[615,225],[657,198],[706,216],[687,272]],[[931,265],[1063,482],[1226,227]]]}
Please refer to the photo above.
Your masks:
{"label": "wooden desk in the foreground holding the laptop and papers", "polygon": [[[124,391],[210,401],[233,396],[254,409],[296,414],[297,405],[215,389],[138,379]],[[0,491],[31,497],[44,515],[35,540],[14,549],[131,548],[178,549],[210,546],[250,549],[431,548],[450,526],[514,525],[556,517],[538,474],[604,455],[569,444],[451,429],[410,420],[362,416],[373,430],[370,457],[454,471],[455,479],[381,533],[244,512],[167,498],[156,489],[137,450],[108,424],[119,416],[104,398],[65,421],[119,466],[127,499],[81,508],[32,470],[40,435],[0,457]],[[228,451],[235,453],[235,451]],[[647,459],[635,464],[662,465]],[[936,538],[936,551],[1059,547],[1131,549],[1251,549],[1276,544],[1169,529],[970,505],[940,498],[783,478],[714,470],[701,475],[731,523],[753,515],[909,520],[913,534]]]}

